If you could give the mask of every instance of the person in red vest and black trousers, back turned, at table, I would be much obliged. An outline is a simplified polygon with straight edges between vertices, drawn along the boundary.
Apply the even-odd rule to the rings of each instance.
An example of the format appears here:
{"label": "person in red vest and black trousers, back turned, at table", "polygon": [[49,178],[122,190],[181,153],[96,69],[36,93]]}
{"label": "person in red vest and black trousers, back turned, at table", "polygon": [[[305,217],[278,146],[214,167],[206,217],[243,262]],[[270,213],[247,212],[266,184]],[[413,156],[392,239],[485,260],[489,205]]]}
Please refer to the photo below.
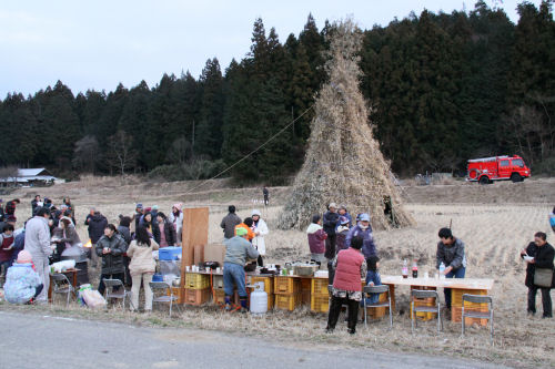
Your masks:
{"label": "person in red vest and black trousers, back turned, at table", "polygon": [[351,247],[339,252],[332,262],[335,269],[332,288],[332,303],[327,316],[326,331],[332,332],[337,324],[341,307],[347,306],[349,334],[356,332],[356,320],[359,318],[359,306],[362,299],[361,279],[366,277],[366,259],[361,253],[364,239],[355,236],[351,240]]}

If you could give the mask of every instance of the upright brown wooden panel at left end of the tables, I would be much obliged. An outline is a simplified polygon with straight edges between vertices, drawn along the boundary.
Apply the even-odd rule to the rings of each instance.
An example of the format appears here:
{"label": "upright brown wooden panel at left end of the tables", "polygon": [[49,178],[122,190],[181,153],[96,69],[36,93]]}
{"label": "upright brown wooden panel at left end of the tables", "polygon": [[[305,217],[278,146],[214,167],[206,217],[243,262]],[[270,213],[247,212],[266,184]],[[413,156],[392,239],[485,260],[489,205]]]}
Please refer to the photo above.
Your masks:
{"label": "upright brown wooden panel at left end of the tables", "polygon": [[[208,244],[209,208],[184,208],[182,228],[181,275],[185,275],[185,266],[194,262],[194,246]],[[185,286],[185,278],[181,278],[181,288]]]}

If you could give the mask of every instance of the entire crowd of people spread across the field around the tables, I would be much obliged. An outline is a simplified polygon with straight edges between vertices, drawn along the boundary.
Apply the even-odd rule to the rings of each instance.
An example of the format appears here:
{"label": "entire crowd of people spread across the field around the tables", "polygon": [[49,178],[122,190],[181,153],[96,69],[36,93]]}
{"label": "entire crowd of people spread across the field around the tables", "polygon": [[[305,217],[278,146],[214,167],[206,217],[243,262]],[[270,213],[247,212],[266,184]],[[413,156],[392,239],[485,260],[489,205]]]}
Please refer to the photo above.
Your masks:
{"label": "entire crowd of people spread across the field around the tables", "polygon": [[[268,192],[264,192],[268,202]],[[49,266],[69,248],[82,246],[75,229],[74,206],[69,197],[56,206],[51,199],[39,195],[31,202],[32,217],[17,228],[16,207],[19,199],[0,206],[0,267],[6,280],[4,294],[10,303],[46,303],[49,289]],[[1,204],[1,199],[0,199]],[[225,257],[223,279],[225,308],[231,309],[234,287],[238,288],[241,308],[246,311],[245,265],[263,266],[266,255],[264,237],[269,235],[262,213],[253,209],[241,218],[235,206],[228,208],[220,226],[223,230]],[[100,269],[98,290],[105,290],[104,279],[120,279],[132,288],[132,309],[139,307],[141,284],[145,293],[147,311],[152,309],[149,283],[155,270],[154,250],[181,245],[182,204],[174,204],[167,216],[157,205],[137,204],[132,215],[119,216],[119,225],[110,224],[98,209],[91,208],[84,219],[90,238],[93,269]],[[549,214],[555,232],[555,208]],[[380,258],[367,213],[354,219],[343,205],[331,203],[326,212],[312,216],[306,228],[311,260],[326,265],[330,274],[331,306],[327,331],[333,331],[343,306],[347,306],[347,329],[356,331],[359,308],[366,298],[375,304],[379,296],[362,294],[361,278],[370,286],[381,285]],[[435,267],[445,278],[464,278],[466,274],[465,245],[451,228],[441,228],[436,248]],[[525,285],[528,287],[527,311],[536,314],[536,295],[542,294],[543,318],[553,316],[551,289],[555,287],[555,249],[547,243],[547,235],[538,232],[534,242],[522,249],[526,262]],[[99,265],[100,264],[100,265]],[[444,289],[446,309],[451,309],[451,290]],[[448,314],[447,314],[448,316]]]}

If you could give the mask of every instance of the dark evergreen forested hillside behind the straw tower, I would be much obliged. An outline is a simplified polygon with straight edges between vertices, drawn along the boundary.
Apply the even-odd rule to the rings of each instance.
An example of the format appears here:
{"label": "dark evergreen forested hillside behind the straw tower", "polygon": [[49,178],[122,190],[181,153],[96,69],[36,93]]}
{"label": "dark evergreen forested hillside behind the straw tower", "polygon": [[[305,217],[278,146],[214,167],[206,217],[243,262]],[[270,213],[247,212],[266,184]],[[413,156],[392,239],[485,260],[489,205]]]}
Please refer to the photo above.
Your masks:
{"label": "dark evergreen forested hillside behind the straw tower", "polygon": [[[364,31],[361,89],[397,174],[460,172],[467,158],[497,154],[555,173],[552,2],[522,2],[517,24],[478,1],[470,12],[424,11]],[[155,86],[77,95],[58,81],[33,95],[8,94],[0,164],[210,177],[304,113],[226,174],[282,182],[304,157],[330,32],[309,16],[299,35],[280,40],[258,19],[250,52],[226,66],[208,60],[199,78],[164,74]]]}

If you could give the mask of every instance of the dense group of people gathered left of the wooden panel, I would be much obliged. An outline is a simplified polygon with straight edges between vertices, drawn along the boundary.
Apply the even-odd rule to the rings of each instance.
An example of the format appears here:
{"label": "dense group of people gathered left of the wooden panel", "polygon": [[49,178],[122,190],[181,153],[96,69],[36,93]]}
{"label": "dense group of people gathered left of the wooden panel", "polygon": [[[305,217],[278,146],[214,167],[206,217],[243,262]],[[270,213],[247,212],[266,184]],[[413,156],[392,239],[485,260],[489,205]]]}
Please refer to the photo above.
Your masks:
{"label": "dense group of people gathered left of the wooden panel", "polygon": [[50,265],[59,262],[67,250],[77,249],[91,259],[91,271],[99,275],[100,294],[105,290],[104,279],[120,279],[132,287],[131,307],[137,309],[142,283],[145,310],[152,309],[149,286],[155,271],[152,252],[181,245],[181,203],[172,206],[169,216],[157,205],[137,204],[132,215],[119,216],[118,226],[110,224],[100,211],[91,208],[84,219],[89,245],[83,245],[75,229],[75,208],[69,197],[57,206],[52,199],[41,199],[37,195],[31,202],[32,216],[23,227],[16,229],[14,213],[19,203],[14,199],[0,207],[0,266],[8,301],[47,303]]}

